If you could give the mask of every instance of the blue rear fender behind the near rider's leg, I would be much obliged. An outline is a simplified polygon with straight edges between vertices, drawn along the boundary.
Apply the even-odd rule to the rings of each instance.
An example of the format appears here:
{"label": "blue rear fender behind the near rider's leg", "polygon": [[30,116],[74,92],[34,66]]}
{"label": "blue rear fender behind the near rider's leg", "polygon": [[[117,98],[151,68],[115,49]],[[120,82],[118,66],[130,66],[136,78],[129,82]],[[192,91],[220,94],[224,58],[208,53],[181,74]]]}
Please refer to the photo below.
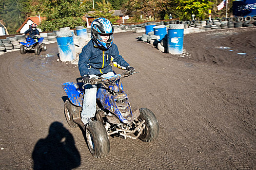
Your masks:
{"label": "blue rear fender behind the near rider's leg", "polygon": [[70,102],[76,106],[82,107],[83,92],[79,90],[78,85],[73,82],[66,82],[62,84],[62,87],[66,92]]}

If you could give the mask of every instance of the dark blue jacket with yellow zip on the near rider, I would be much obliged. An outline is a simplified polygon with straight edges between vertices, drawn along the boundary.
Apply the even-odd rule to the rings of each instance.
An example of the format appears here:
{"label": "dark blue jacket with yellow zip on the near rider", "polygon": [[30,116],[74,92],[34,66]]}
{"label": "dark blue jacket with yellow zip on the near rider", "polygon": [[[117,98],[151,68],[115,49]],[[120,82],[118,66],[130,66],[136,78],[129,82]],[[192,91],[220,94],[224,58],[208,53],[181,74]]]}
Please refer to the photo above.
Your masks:
{"label": "dark blue jacket with yellow zip on the near rider", "polygon": [[119,55],[116,44],[113,43],[107,51],[102,51],[91,40],[83,47],[82,52],[79,54],[78,67],[80,75],[98,75],[111,72],[112,66],[110,61],[117,68],[125,69],[129,66],[122,56]]}

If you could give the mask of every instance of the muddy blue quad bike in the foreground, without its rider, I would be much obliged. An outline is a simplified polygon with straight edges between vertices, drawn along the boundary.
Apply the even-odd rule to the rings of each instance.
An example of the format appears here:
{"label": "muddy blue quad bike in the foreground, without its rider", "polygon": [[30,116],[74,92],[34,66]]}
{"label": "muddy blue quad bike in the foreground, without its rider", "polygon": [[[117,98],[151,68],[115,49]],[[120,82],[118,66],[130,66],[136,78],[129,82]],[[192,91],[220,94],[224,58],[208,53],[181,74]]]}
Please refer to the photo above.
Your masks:
{"label": "muddy blue quad bike in the foreground, without its rider", "polygon": [[158,137],[159,125],[154,113],[147,108],[132,111],[127,94],[123,91],[122,81],[134,73],[124,71],[122,74],[107,78],[92,78],[89,84],[97,85],[97,111],[92,121],[81,121],[84,86],[80,78],[78,83],[62,84],[69,100],[64,103],[64,114],[71,127],[80,126],[85,131],[87,146],[96,158],[105,157],[110,151],[109,136],[124,139],[140,139],[150,142]]}

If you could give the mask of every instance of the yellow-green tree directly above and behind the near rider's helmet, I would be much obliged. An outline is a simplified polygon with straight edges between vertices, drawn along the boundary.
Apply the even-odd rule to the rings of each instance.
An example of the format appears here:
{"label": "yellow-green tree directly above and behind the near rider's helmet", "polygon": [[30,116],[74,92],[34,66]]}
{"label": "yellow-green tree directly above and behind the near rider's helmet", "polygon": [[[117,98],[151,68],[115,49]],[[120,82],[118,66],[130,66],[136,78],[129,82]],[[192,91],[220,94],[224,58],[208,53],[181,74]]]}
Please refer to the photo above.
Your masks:
{"label": "yellow-green tree directly above and behind the near rider's helmet", "polygon": [[92,17],[104,17],[109,19],[112,23],[116,23],[117,20],[119,19],[118,16],[113,16],[114,11],[112,8],[111,3],[106,3],[105,0],[102,0],[102,2],[96,2],[98,5],[98,8],[95,9],[93,14],[88,14],[89,16]]}

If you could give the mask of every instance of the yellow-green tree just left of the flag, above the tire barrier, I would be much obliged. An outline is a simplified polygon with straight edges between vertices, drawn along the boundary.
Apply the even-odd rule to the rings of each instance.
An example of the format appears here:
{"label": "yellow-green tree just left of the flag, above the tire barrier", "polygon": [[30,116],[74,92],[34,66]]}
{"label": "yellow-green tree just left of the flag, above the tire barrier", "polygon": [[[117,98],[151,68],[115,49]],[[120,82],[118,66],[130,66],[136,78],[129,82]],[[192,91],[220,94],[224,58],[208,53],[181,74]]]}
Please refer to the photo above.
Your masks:
{"label": "yellow-green tree just left of the flag, above the tire barrier", "polygon": [[204,19],[208,16],[208,10],[212,9],[214,4],[210,0],[175,0],[177,10],[180,12],[178,17],[182,20],[192,19],[191,15]]}

